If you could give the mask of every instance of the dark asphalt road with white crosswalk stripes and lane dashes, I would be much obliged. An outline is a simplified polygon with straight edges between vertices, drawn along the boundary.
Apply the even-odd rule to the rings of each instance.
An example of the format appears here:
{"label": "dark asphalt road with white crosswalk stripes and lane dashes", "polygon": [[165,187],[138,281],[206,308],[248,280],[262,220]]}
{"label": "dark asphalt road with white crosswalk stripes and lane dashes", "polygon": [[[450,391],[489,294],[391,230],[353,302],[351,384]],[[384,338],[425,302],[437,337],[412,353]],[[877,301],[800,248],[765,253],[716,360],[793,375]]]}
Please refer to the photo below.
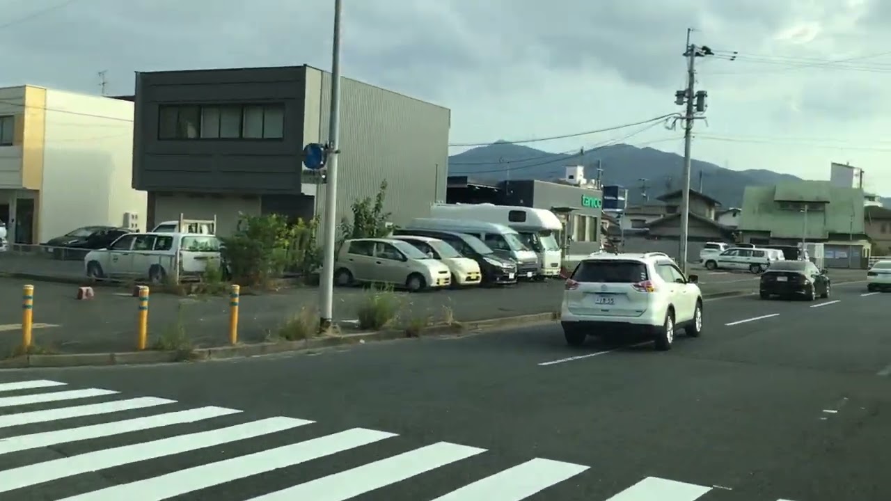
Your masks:
{"label": "dark asphalt road with white crosswalk stripes and lane dashes", "polygon": [[710,300],[668,352],[569,349],[554,324],[0,372],[0,498],[885,501],[889,300]]}

